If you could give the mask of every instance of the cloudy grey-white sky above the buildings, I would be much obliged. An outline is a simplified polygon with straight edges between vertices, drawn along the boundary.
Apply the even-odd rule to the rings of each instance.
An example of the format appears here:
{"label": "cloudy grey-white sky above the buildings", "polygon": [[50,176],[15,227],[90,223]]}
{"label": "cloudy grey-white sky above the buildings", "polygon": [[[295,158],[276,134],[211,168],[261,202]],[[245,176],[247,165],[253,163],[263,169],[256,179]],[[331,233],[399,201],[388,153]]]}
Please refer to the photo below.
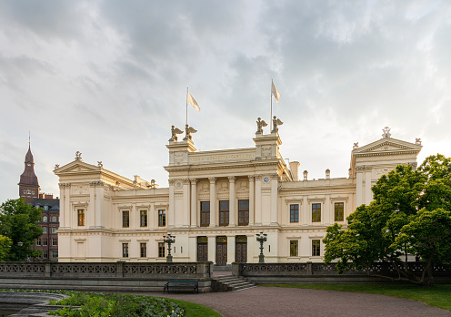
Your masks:
{"label": "cloudy grey-white sky above the buildings", "polygon": [[[195,148],[249,148],[273,114],[284,158],[346,177],[354,142],[451,156],[449,1],[0,0],[0,201],[18,197],[31,131],[41,189],[82,152],[167,186],[170,127]],[[267,129],[267,128],[266,128]]]}

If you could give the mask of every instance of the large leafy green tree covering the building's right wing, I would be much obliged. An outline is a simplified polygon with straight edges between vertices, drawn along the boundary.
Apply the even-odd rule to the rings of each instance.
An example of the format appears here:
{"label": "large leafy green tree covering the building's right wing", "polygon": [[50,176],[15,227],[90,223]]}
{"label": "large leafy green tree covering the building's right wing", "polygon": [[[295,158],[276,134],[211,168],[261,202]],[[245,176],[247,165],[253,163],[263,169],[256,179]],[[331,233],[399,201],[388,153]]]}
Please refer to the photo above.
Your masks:
{"label": "large leafy green tree covering the building's right wing", "polygon": [[[418,168],[397,166],[378,179],[374,200],[357,207],[348,226],[327,228],[325,261],[339,272],[357,268],[393,281],[432,284],[434,263],[451,261],[451,159],[437,154]],[[421,276],[410,270],[407,254],[426,262]],[[375,273],[374,262],[393,264],[397,276]]]}

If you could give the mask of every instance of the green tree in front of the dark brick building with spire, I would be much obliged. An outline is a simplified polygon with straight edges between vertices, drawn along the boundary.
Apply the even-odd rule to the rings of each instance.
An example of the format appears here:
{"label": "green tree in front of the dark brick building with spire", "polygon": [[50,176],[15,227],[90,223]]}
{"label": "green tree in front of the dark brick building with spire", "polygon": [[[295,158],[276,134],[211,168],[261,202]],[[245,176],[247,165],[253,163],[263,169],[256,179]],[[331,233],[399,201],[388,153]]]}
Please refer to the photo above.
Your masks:
{"label": "green tree in front of the dark brick building with spire", "polygon": [[[41,210],[24,199],[8,199],[0,205],[0,234],[11,240],[10,251],[5,255],[5,261],[22,261],[27,257],[38,257],[40,251],[32,246],[43,230],[36,224],[41,220]],[[22,242],[20,247],[18,242]],[[20,253],[20,259],[19,259]]]}

